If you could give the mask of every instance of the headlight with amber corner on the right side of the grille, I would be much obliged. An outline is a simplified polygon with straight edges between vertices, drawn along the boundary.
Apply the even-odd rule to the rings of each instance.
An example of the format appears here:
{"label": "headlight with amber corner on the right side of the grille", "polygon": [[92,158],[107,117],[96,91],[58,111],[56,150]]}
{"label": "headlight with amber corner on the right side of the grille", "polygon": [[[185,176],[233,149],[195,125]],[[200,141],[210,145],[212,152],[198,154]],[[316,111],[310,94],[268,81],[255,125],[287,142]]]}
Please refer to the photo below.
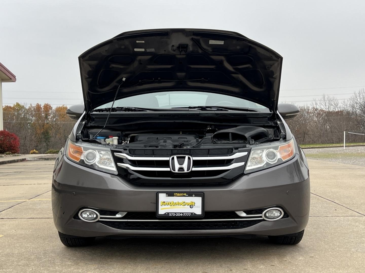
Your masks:
{"label": "headlight with amber corner on the right side of the grille", "polygon": [[257,145],[251,149],[245,173],[279,165],[295,155],[294,140]]}

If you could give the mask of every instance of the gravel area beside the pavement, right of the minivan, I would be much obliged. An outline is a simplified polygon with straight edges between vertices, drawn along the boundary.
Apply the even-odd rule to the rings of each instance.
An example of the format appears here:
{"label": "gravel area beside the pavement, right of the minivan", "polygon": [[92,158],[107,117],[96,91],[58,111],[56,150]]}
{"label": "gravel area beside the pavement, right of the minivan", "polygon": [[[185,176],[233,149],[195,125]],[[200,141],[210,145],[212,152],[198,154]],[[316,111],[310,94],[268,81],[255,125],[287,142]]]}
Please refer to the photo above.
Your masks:
{"label": "gravel area beside the pavement, right of the minivan", "polygon": [[307,158],[365,166],[365,146],[303,149]]}

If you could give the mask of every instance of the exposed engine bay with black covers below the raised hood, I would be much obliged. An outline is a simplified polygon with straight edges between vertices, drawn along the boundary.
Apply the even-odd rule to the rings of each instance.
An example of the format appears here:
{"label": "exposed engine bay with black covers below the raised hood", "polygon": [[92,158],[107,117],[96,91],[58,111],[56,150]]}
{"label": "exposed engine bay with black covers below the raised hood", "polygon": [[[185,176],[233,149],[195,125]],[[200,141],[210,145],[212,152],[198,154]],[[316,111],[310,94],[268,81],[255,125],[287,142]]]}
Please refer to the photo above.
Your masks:
{"label": "exposed engine bay with black covers below the raised hood", "polygon": [[[278,141],[285,136],[280,127],[261,126],[236,126],[223,130],[208,126],[201,130],[180,131],[133,132],[110,129],[99,131],[100,129],[85,128],[82,132],[82,141],[125,148],[190,149],[216,146],[246,147],[250,144]],[[109,141],[112,138],[116,140],[114,143]]]}

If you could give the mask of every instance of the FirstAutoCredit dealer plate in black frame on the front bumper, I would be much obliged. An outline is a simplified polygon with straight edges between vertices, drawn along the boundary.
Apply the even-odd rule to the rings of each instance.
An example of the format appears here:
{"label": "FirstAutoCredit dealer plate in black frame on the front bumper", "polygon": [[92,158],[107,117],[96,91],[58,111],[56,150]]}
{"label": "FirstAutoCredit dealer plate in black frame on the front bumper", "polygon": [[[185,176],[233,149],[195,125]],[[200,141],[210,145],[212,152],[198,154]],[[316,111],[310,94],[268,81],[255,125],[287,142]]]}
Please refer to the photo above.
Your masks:
{"label": "FirstAutoCredit dealer plate in black frame on the front bumper", "polygon": [[157,217],[203,217],[204,193],[157,193]]}

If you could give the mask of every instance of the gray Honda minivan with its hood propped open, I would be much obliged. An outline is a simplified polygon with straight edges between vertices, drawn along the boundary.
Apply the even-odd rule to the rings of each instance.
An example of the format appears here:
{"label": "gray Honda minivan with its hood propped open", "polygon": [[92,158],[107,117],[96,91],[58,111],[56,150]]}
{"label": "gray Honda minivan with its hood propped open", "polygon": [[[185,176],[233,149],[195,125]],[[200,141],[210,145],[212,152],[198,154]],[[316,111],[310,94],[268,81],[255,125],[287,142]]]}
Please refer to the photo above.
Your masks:
{"label": "gray Honda minivan with its hood propped open", "polygon": [[99,236],[268,236],[297,244],[306,157],[278,104],[283,58],[230,31],[124,32],[79,57],[83,105],[59,152],[54,224],[66,246]]}

